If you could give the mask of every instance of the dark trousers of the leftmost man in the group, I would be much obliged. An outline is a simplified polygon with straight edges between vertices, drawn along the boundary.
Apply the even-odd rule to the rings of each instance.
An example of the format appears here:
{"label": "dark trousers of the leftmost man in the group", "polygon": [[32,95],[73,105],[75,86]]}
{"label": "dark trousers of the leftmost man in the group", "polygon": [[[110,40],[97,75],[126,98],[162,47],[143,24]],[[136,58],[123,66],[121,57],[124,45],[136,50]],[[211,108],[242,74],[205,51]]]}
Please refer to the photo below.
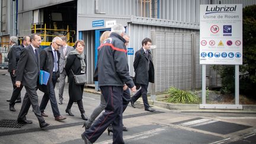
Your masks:
{"label": "dark trousers of the leftmost man in the group", "polygon": [[21,85],[20,88],[17,88],[15,85],[15,82],[16,82],[15,76],[12,74],[12,72],[10,72],[10,75],[11,75],[13,91],[12,91],[11,100],[9,101],[9,105],[14,106],[16,100],[21,100],[21,90],[23,89],[23,85]]}

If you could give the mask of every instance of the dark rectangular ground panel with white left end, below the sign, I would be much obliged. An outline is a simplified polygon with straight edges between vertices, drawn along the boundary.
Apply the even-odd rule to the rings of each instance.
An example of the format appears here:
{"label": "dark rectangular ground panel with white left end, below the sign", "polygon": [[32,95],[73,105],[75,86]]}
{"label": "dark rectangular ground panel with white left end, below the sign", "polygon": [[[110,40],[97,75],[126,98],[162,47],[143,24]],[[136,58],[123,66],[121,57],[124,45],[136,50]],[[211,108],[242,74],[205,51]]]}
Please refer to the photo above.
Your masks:
{"label": "dark rectangular ground panel with white left end, below the sign", "polygon": [[242,124],[228,123],[224,121],[196,118],[191,120],[179,121],[177,124],[184,127],[191,127],[193,129],[204,130],[207,132],[219,133],[226,135],[228,133],[238,132],[239,130],[248,129],[251,126],[245,126]]}

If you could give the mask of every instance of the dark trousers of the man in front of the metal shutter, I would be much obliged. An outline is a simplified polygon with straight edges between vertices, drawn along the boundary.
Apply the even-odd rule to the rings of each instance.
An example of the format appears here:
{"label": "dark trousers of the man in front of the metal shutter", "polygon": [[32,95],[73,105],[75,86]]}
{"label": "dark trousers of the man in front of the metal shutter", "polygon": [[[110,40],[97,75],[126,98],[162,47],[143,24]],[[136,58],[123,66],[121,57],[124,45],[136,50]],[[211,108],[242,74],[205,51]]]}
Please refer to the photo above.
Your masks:
{"label": "dark trousers of the man in front of the metal shutter", "polygon": [[136,94],[133,95],[133,97],[131,97],[131,100],[133,101],[133,103],[135,103],[135,101],[137,101],[137,99],[139,99],[140,96],[142,96],[144,107],[149,108],[150,105],[148,104],[147,93],[148,93],[148,85],[141,85],[141,89],[137,91]]}

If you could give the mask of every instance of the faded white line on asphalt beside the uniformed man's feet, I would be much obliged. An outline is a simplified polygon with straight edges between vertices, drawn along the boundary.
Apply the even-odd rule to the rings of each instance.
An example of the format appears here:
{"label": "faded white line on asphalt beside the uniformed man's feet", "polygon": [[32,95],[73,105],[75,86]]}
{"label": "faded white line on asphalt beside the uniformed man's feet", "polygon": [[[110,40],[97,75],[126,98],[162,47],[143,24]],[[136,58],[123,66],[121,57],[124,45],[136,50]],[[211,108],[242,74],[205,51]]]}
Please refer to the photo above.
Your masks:
{"label": "faded white line on asphalt beside the uniformed man's feet", "polygon": [[[161,132],[161,131],[163,131],[163,130],[165,130],[167,128],[168,127],[161,127],[159,129],[154,129],[154,130],[149,130],[149,131],[146,131],[146,132],[136,133],[135,135],[131,135],[131,136],[123,136],[123,139],[124,140],[129,140],[129,139],[132,139],[132,140],[145,139],[145,138],[148,138],[148,137],[151,137],[151,136],[154,136],[154,135],[158,135],[159,132]],[[112,143],[112,140],[105,140],[105,141],[99,142],[97,144],[107,144],[107,143]]]}

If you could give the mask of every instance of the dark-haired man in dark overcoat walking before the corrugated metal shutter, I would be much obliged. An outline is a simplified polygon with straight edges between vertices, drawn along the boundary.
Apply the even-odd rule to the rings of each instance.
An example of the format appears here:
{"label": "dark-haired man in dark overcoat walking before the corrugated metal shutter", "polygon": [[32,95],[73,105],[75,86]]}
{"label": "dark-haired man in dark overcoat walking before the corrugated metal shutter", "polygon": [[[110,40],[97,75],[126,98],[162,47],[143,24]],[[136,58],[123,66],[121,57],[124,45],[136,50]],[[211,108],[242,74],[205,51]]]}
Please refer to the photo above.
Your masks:
{"label": "dark-haired man in dark overcoat walking before the corrugated metal shutter", "polygon": [[130,103],[135,108],[135,101],[142,96],[143,104],[146,111],[155,111],[148,103],[148,84],[154,82],[153,60],[150,52],[152,41],[149,38],[142,40],[142,48],[135,53],[133,67],[135,69],[135,84],[139,84],[141,89],[131,97]]}

